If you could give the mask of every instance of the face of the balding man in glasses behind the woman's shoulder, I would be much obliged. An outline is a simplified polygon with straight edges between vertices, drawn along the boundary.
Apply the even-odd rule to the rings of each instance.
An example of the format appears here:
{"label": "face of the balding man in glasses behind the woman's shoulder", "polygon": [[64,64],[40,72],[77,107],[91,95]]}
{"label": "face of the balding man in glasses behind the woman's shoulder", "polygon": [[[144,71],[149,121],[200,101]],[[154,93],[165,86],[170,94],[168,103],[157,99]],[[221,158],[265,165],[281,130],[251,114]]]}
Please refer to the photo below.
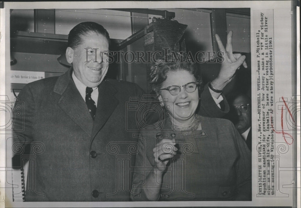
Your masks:
{"label": "face of the balding man in glasses behind the woman's shoulder", "polygon": [[[241,112],[238,109],[238,106],[240,106],[241,104],[249,104],[249,110],[244,113]],[[235,128],[240,134],[244,133],[252,124],[251,103],[248,101],[247,98],[240,95],[234,99],[232,106],[235,108],[235,114],[237,115],[237,122],[235,123]]]}

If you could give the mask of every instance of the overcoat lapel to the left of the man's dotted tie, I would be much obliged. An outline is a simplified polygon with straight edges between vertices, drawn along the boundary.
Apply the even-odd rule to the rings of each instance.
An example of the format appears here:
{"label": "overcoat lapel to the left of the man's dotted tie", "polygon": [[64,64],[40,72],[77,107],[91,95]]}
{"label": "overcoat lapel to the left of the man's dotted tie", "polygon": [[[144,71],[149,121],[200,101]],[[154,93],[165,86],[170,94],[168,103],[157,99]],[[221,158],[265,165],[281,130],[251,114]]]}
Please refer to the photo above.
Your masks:
{"label": "overcoat lapel to the left of the man's dotted tie", "polygon": [[73,83],[71,70],[72,68],[61,75],[54,86],[54,92],[61,95],[57,104],[82,130],[91,136],[93,119],[85,101]]}

